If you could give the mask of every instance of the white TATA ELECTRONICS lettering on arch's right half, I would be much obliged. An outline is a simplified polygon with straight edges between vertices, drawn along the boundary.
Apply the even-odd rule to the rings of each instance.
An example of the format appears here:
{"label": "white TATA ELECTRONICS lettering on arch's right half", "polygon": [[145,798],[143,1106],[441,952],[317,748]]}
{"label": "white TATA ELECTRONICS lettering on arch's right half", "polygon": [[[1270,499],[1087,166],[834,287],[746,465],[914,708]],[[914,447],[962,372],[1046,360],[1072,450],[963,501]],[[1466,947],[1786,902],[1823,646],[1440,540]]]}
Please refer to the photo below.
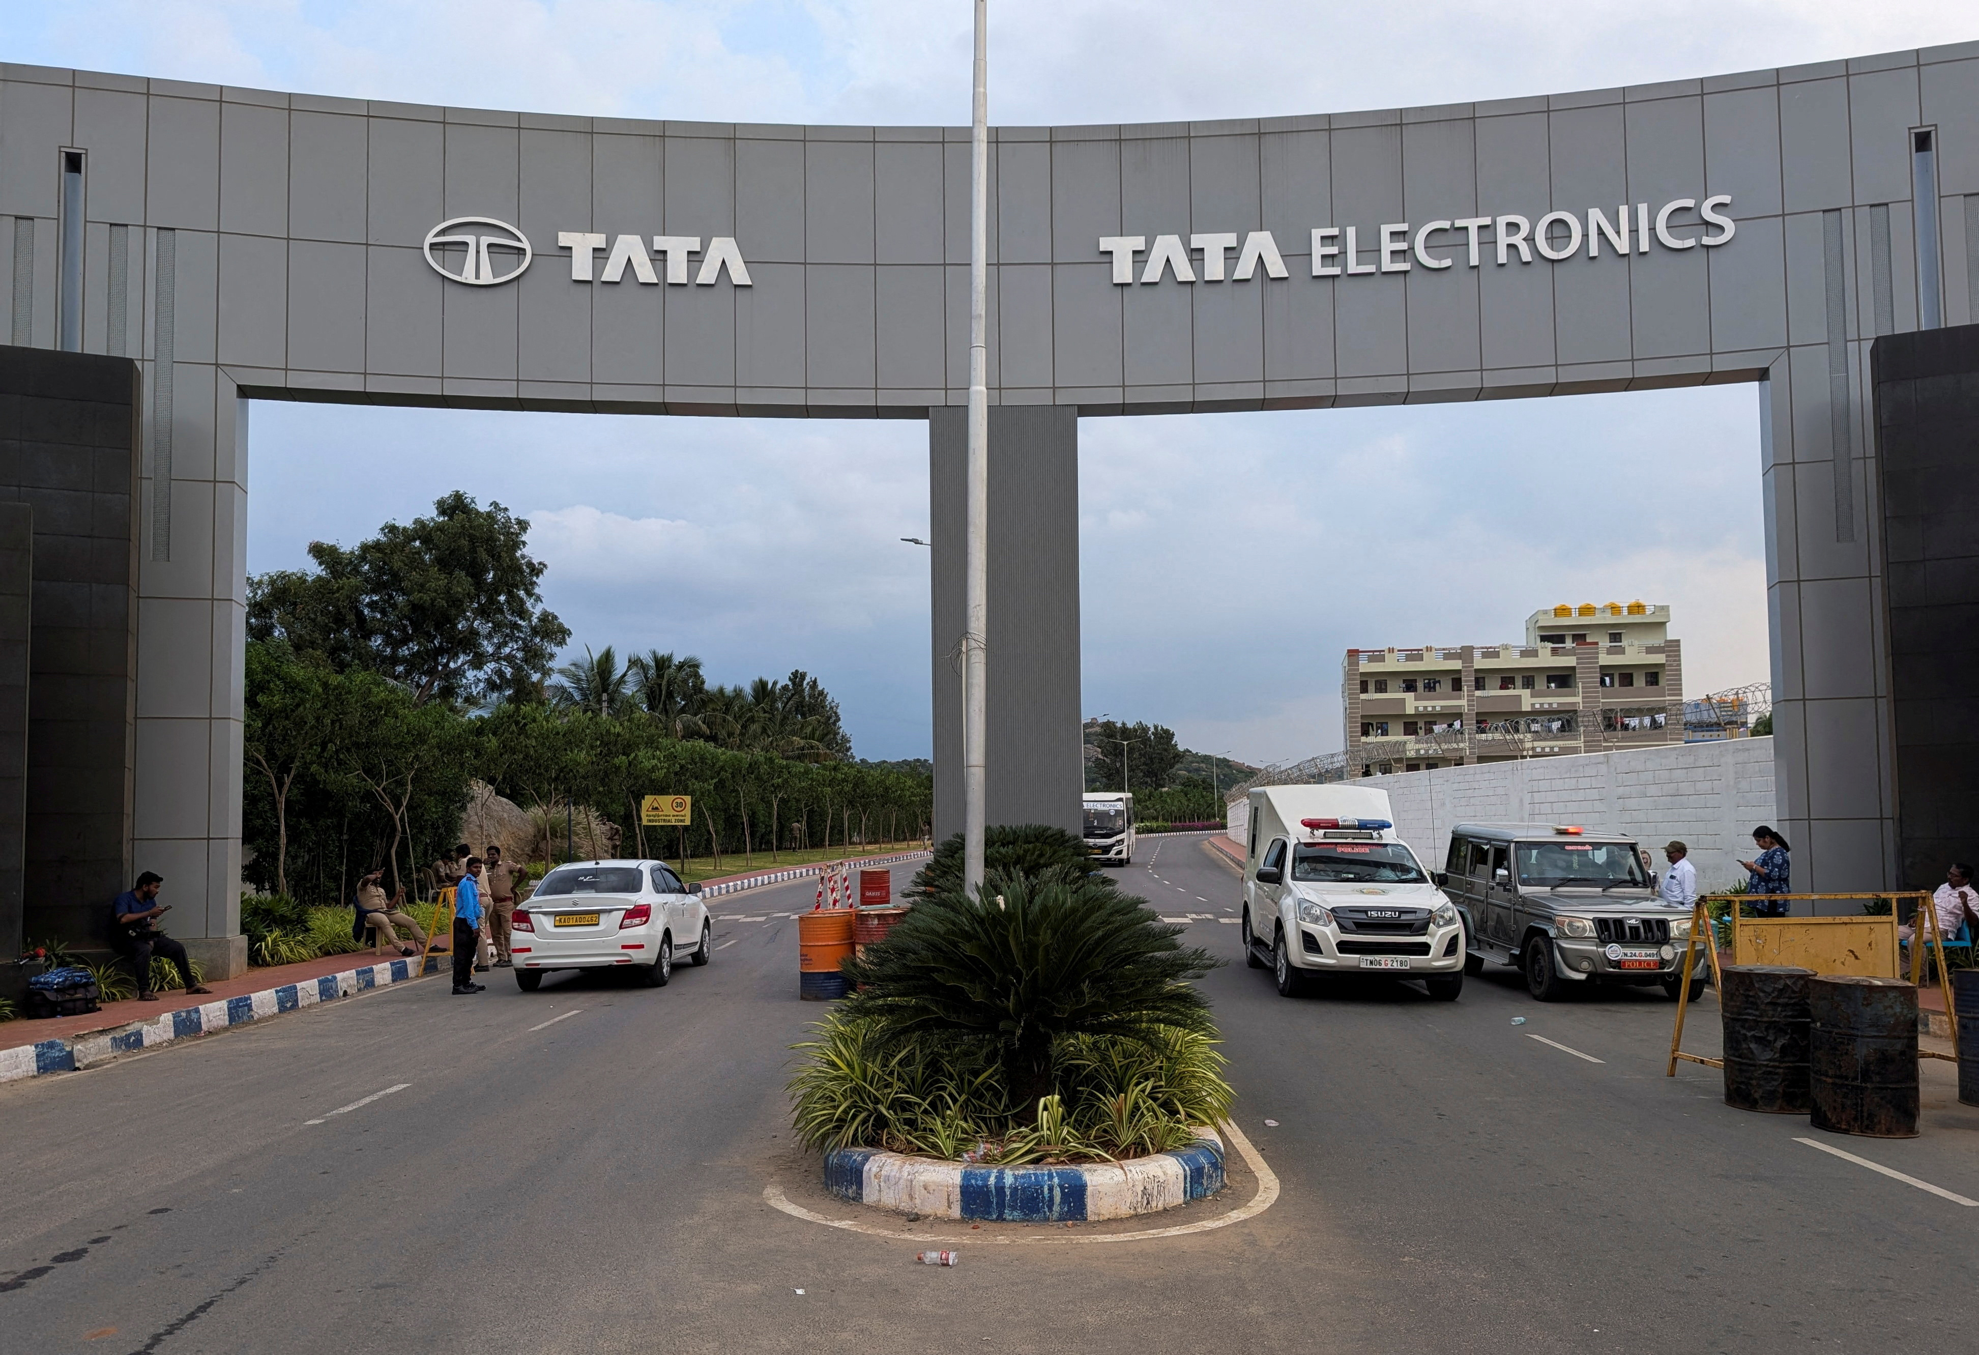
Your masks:
{"label": "white TATA ELECTRONICS lettering on arch's right half", "polygon": [[[1577,212],[1548,212],[1538,222],[1516,214],[1466,216],[1421,226],[1385,222],[1366,237],[1358,226],[1314,226],[1312,275],[1360,277],[1407,273],[1415,267],[1441,271],[1459,263],[1474,269],[1482,267],[1486,257],[1494,257],[1494,267],[1532,263],[1534,255],[1557,263],[1577,255],[1583,241],[1589,259],[1601,257],[1603,243],[1615,255],[1649,253],[1650,239],[1662,249],[1698,245],[1712,249],[1738,233],[1738,226],[1724,214],[1730,206],[1730,194],[1702,202],[1672,198],[1654,210],[1647,202],[1637,202],[1633,208],[1623,202],[1615,206],[1613,216],[1603,208],[1589,208],[1585,226]],[[1237,251],[1235,267],[1231,251]],[[1237,231],[1197,231],[1187,243],[1181,243],[1181,235],[1156,235],[1152,245],[1146,235],[1100,235],[1100,253],[1112,257],[1112,279],[1122,287],[1134,283],[1136,263],[1142,263],[1142,283],[1160,283],[1170,275],[1178,283],[1193,283],[1197,259],[1205,283],[1225,279],[1247,283],[1261,267],[1265,277],[1290,277],[1271,231],[1249,231],[1243,243]]]}

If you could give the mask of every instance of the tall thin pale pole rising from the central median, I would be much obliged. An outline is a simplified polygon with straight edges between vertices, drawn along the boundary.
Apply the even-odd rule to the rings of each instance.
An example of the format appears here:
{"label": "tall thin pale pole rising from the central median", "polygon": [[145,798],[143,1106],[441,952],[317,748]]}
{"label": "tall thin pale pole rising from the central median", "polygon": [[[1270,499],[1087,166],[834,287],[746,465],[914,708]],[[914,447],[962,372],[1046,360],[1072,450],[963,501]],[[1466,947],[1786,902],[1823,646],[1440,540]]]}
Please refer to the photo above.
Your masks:
{"label": "tall thin pale pole rising from the central median", "polygon": [[962,663],[962,888],[982,890],[990,742],[990,0],[976,0],[970,115],[970,467],[968,631]]}

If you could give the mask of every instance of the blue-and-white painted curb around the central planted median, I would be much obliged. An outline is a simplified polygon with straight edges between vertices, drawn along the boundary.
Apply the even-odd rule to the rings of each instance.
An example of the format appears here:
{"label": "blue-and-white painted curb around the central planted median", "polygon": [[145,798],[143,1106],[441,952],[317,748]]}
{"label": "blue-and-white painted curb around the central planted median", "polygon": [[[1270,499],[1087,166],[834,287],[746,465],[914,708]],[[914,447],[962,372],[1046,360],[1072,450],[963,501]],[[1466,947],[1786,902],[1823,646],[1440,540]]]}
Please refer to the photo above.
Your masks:
{"label": "blue-and-white painted curb around the central planted median", "polygon": [[1201,1131],[1189,1147],[1077,1167],[968,1163],[841,1147],[825,1153],[825,1189],[839,1199],[924,1219],[1096,1222],[1187,1205],[1223,1189],[1223,1139]]}

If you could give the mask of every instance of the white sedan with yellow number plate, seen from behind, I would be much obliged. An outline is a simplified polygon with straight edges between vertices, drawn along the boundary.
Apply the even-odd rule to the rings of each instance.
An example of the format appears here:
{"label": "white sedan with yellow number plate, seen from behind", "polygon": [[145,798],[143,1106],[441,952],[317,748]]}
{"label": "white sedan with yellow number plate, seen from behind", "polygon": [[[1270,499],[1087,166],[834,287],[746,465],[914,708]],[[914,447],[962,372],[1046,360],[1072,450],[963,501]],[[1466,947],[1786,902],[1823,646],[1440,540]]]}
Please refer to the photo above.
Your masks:
{"label": "white sedan with yellow number plate, seen from behind", "polygon": [[699,884],[681,884],[663,860],[584,860],[558,866],[517,904],[509,951],[524,993],[550,969],[631,965],[647,987],[673,977],[673,957],[714,955],[714,928]]}

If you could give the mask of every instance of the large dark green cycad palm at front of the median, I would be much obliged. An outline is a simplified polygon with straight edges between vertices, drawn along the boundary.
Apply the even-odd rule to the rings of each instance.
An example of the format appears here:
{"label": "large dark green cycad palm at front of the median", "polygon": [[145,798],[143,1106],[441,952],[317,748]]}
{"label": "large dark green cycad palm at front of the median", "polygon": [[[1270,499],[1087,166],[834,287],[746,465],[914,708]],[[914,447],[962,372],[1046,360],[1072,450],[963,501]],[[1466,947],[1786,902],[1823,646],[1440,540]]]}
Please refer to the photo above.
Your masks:
{"label": "large dark green cycad palm at front of the median", "polygon": [[1191,979],[1219,961],[1185,949],[1142,900],[1073,868],[991,872],[982,900],[942,890],[845,973],[849,1021],[883,1040],[922,1035],[995,1050],[1015,1112],[1049,1096],[1053,1046],[1118,1037],[1160,1048],[1164,1031],[1213,1035]]}

